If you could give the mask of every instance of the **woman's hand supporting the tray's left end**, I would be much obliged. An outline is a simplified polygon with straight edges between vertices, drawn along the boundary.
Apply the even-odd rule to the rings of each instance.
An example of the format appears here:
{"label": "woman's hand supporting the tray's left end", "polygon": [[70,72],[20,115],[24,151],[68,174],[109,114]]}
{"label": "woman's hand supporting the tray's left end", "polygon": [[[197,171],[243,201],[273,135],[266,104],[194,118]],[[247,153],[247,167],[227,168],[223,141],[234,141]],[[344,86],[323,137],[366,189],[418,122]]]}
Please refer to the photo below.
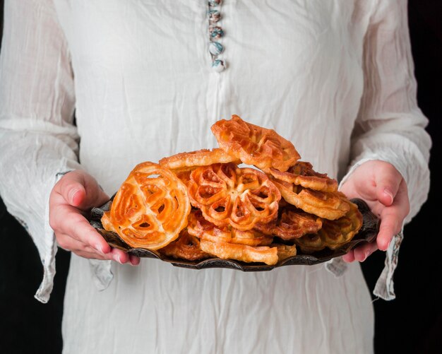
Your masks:
{"label": "woman's hand supporting the tray's left end", "polygon": [[88,173],[74,170],[66,173],[49,196],[49,225],[63,249],[92,259],[112,259],[136,266],[140,259],[112,248],[86,220],[85,212],[109,200],[97,181]]}

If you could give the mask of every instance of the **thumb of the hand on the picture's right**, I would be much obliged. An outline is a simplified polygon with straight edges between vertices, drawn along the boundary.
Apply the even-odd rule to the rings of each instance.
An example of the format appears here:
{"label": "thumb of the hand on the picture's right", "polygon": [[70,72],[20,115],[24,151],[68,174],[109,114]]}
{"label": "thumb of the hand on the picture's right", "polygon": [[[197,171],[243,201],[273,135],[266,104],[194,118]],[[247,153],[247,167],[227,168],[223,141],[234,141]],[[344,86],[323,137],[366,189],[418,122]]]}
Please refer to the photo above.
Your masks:
{"label": "thumb of the hand on the picture's right", "polygon": [[402,175],[393,165],[384,165],[376,174],[376,196],[378,201],[384,206],[393,204],[396,194],[398,194]]}

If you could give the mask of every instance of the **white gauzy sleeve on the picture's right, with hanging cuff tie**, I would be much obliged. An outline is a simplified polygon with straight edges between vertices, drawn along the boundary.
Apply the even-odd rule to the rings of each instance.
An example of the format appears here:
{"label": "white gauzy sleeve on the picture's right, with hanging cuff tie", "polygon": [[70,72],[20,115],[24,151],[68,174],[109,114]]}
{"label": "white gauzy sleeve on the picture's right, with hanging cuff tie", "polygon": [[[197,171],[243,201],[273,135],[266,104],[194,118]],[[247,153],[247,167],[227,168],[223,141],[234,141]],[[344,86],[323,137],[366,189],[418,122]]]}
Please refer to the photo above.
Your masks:
{"label": "white gauzy sleeve on the picture's right, with hanging cuff tie", "polygon": [[[364,42],[364,93],[352,136],[352,171],[367,160],[394,165],[407,182],[410,214],[429,192],[427,119],[417,107],[417,84],[407,25],[407,1],[378,1]],[[345,178],[343,181],[345,181]],[[393,238],[375,295],[395,297],[393,272],[402,232]]]}

